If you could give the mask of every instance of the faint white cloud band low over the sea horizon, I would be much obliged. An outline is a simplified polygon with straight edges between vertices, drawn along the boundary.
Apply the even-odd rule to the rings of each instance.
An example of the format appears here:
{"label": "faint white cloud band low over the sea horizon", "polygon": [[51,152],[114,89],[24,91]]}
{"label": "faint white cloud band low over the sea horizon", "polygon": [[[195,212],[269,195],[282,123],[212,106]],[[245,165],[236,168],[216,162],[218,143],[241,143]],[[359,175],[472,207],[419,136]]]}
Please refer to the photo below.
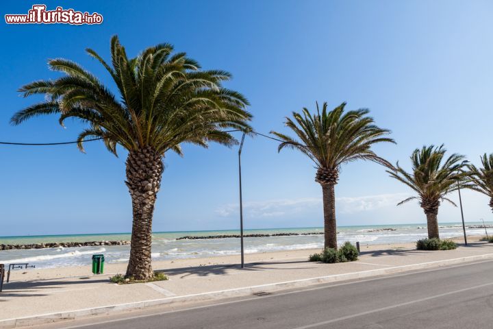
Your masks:
{"label": "faint white cloud band low over the sea horizon", "polygon": [[[402,199],[409,197],[406,193],[366,195],[362,197],[336,198],[336,210],[340,213],[352,214],[368,210],[395,207]],[[322,198],[274,199],[259,202],[244,202],[244,215],[251,218],[281,217],[322,208]],[[237,215],[238,204],[226,204],[216,208],[221,217]]]}

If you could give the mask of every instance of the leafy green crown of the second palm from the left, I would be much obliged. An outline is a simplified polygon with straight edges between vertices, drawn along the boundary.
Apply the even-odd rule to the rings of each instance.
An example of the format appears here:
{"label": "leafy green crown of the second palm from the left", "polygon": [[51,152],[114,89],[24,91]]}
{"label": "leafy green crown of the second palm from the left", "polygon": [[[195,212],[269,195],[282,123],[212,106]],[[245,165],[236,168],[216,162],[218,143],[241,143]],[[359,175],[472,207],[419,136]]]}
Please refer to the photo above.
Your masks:
{"label": "leafy green crown of the second palm from the left", "polygon": [[285,147],[297,149],[315,162],[317,167],[339,171],[342,164],[356,160],[370,160],[385,167],[393,168],[387,160],[377,156],[371,147],[377,143],[395,143],[385,135],[385,130],[374,124],[368,117],[367,109],[344,112],[346,103],[329,111],[327,103],[316,111],[303,108],[301,113],[292,112],[286,118],[286,127],[296,138],[280,132],[271,132],[282,142],[279,151]]}

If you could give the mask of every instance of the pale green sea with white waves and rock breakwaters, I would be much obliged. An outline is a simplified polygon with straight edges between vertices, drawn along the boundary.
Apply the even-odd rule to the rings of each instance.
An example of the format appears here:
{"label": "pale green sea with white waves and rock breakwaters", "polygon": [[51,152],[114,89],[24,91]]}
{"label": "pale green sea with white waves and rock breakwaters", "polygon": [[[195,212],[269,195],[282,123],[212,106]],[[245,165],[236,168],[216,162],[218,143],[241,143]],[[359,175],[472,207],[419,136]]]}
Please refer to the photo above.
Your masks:
{"label": "pale green sea with white waves and rock breakwaters", "polygon": [[[492,226],[493,222],[485,222]],[[467,222],[466,233],[470,236],[484,236],[483,222]],[[392,230],[383,230],[392,229]],[[273,252],[323,247],[323,234],[301,235],[302,233],[323,232],[323,228],[271,228],[244,230],[244,234],[295,233],[291,236],[268,236],[244,238],[245,253]],[[153,260],[172,260],[175,258],[197,258],[208,256],[240,254],[240,239],[197,239],[177,240],[181,236],[214,236],[239,234],[238,230],[155,232],[153,233]],[[493,235],[493,228],[488,229]],[[462,236],[462,223],[440,223],[440,237]],[[427,237],[426,224],[338,226],[338,243],[359,241],[362,245],[386,243],[409,243]],[[129,233],[113,234],[75,234],[43,236],[0,236],[0,244],[61,243],[84,241],[130,240]],[[29,263],[36,268],[69,267],[89,265],[92,254],[104,254],[106,263],[125,263],[129,259],[129,245],[97,247],[57,247],[46,249],[14,249],[0,251],[0,264]]]}

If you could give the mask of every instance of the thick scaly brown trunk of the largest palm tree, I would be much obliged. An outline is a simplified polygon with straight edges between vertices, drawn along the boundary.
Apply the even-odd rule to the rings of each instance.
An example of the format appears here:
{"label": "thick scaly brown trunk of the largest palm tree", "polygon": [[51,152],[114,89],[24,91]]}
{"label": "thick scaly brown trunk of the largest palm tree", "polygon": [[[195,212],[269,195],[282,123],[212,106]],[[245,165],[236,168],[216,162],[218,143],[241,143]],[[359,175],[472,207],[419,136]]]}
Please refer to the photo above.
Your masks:
{"label": "thick scaly brown trunk of the largest palm tree", "polygon": [[132,200],[130,259],[127,277],[147,280],[154,276],[151,265],[152,218],[161,185],[162,156],[152,147],[131,151],[127,158],[127,181]]}

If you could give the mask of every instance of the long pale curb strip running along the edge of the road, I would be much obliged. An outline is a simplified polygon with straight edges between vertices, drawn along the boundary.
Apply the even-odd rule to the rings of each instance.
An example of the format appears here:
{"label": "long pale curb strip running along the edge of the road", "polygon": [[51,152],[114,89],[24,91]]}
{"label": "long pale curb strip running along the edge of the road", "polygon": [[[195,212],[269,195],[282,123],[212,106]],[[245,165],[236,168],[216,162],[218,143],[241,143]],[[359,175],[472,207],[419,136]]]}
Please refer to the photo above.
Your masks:
{"label": "long pale curb strip running along the edge of the road", "polygon": [[291,289],[298,287],[306,287],[312,284],[337,282],[343,280],[353,280],[360,278],[369,278],[372,276],[381,276],[385,274],[399,273],[412,271],[416,269],[427,269],[431,267],[441,267],[444,265],[453,265],[466,263],[475,260],[491,259],[493,254],[483,254],[477,256],[467,256],[461,258],[453,258],[448,260],[435,260],[433,262],[418,263],[411,265],[401,265],[396,267],[387,267],[384,269],[370,269],[368,271],[351,272],[344,274],[335,274],[332,276],[320,276],[316,278],[307,278],[301,280],[291,280],[284,282],[276,282],[270,284],[260,284],[252,287],[242,287],[236,289],[227,289],[221,291],[212,291],[207,293],[195,293],[192,295],[165,297],[157,300],[145,300],[142,302],[132,302],[125,304],[115,304],[110,306],[101,306],[96,308],[84,308],[79,310],[69,310],[59,313],[48,313],[42,315],[33,315],[29,317],[21,317],[17,319],[0,320],[0,329],[18,328],[23,326],[34,326],[40,324],[49,324],[55,321],[79,319],[90,315],[102,315],[121,312],[123,310],[148,308],[151,306],[160,306],[172,304],[175,302],[199,302],[204,300],[218,300],[226,297],[237,297],[242,295],[251,295],[263,291],[275,291],[281,289]]}

